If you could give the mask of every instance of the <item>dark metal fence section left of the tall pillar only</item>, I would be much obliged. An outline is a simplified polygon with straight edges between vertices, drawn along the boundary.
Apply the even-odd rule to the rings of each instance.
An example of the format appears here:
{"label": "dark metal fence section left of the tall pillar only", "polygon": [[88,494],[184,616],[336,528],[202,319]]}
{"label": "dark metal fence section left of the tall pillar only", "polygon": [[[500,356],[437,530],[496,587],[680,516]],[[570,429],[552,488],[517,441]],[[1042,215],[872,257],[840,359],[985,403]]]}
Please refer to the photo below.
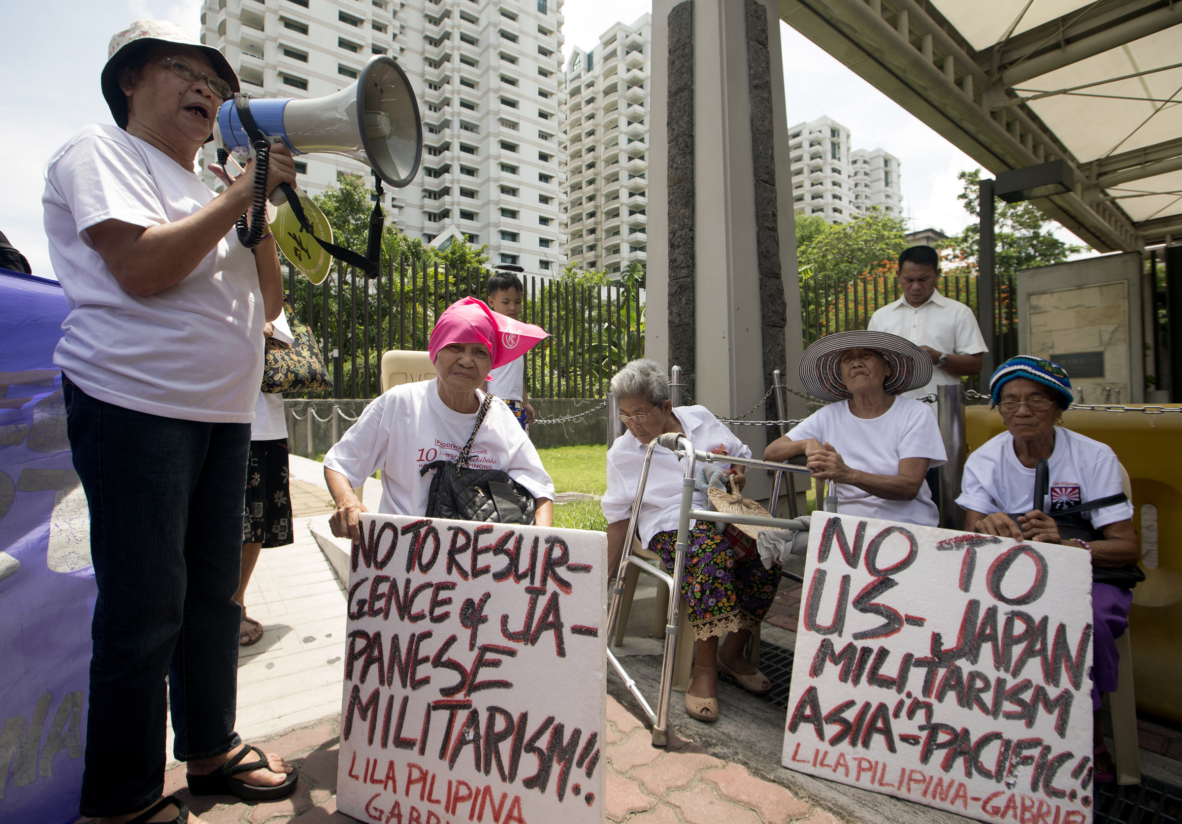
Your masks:
{"label": "dark metal fence section left of the tall pillar only", "polygon": [[[381,394],[382,353],[427,349],[435,319],[456,300],[485,298],[488,270],[384,260],[378,277],[342,267],[319,286],[287,272],[296,319],[307,324],[333,389],[287,397],[368,400]],[[551,338],[526,356],[531,397],[603,397],[611,376],[644,353],[644,291],[625,275],[606,285],[525,277],[520,319]]]}

